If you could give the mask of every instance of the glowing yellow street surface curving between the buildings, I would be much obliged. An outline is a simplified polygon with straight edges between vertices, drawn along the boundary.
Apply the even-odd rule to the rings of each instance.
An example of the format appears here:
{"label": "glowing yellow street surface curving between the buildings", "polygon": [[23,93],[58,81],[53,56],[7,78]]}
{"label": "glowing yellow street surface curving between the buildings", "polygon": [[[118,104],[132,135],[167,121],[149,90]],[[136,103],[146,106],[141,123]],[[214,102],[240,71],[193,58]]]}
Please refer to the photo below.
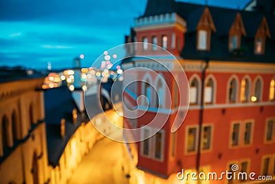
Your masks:
{"label": "glowing yellow street surface curving between the buildings", "polygon": [[118,143],[104,137],[83,157],[68,183],[128,183],[126,174],[122,169],[122,162],[131,159],[126,158],[129,154],[125,154],[125,152],[126,145],[124,143]]}

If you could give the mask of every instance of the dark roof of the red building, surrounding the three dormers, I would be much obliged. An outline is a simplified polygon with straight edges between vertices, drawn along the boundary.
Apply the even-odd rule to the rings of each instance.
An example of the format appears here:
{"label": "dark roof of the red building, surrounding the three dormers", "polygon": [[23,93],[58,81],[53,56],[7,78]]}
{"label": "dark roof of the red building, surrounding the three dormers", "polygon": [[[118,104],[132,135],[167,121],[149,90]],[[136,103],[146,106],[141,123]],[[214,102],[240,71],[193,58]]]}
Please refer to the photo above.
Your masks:
{"label": "dark roof of the red building, surrounding the three dormers", "polygon": [[[274,5],[275,1],[265,0],[269,2],[261,3],[265,6]],[[174,5],[176,8],[174,8]],[[167,7],[167,9],[166,9]],[[194,3],[175,2],[171,0],[148,0],[144,17],[153,14],[164,14],[166,12],[177,12],[179,16],[184,18],[187,23],[187,32],[184,36],[184,48],[181,50],[181,57],[184,59],[210,59],[212,61],[248,61],[275,63],[275,15],[267,12],[268,8],[255,8],[254,11],[244,11],[229,8],[218,8],[207,6],[209,8],[214,26],[217,32],[211,33],[210,51],[197,50],[197,25],[206,6]],[[245,6],[244,6],[245,8]],[[272,9],[274,10],[274,9]],[[241,37],[241,47],[239,54],[229,52],[228,50],[228,34],[236,14],[240,12],[243,20],[246,35]],[[267,19],[267,25],[270,29],[271,38],[266,37],[265,54],[254,54],[254,37],[256,31],[263,20]],[[131,31],[131,37],[133,37]],[[124,59],[122,63],[131,62],[131,59]]]}

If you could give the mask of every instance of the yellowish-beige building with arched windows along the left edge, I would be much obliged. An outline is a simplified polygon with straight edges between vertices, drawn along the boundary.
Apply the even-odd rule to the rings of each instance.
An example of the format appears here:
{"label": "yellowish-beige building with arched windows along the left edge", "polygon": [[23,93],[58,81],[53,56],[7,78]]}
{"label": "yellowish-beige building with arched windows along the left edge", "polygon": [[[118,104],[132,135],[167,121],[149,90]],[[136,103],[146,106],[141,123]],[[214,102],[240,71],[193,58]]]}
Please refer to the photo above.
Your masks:
{"label": "yellowish-beige building with arched windows along the left edge", "polygon": [[48,183],[43,78],[0,83],[0,183]]}

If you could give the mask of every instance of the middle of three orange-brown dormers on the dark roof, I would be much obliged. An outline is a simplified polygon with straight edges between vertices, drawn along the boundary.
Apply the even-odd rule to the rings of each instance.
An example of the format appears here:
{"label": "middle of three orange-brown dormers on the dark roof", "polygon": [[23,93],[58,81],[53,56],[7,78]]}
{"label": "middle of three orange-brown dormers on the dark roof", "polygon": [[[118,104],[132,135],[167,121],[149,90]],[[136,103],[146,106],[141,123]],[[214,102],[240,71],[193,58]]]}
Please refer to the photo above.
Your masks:
{"label": "middle of three orange-brown dormers on the dark roof", "polygon": [[229,31],[228,49],[230,52],[241,47],[242,35],[246,36],[246,32],[245,27],[243,26],[243,20],[241,19],[241,14],[238,12]]}

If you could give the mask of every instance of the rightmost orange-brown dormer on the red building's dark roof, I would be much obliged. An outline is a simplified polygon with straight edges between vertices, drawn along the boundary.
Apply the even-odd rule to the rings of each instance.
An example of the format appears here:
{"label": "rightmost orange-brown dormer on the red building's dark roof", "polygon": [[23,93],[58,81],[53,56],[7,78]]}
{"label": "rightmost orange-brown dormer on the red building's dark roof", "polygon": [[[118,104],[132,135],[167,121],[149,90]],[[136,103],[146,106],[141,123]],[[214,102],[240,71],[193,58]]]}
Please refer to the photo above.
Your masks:
{"label": "rightmost orange-brown dormer on the red building's dark roof", "polygon": [[261,22],[255,36],[254,53],[257,55],[265,54],[265,38],[270,37],[270,30],[265,17]]}

